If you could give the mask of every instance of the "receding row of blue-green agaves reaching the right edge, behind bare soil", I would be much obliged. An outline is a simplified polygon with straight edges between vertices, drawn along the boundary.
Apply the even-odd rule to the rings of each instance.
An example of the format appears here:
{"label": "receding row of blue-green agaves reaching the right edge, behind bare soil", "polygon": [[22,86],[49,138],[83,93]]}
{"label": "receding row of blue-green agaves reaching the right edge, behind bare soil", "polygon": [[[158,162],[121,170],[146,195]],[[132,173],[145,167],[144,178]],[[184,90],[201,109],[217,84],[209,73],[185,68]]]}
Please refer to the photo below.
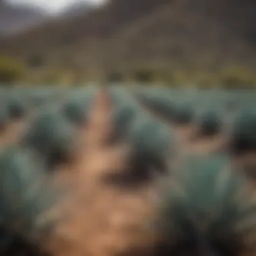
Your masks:
{"label": "receding row of blue-green agaves reaching the right edge, behind bare soil", "polygon": [[135,95],[157,115],[178,125],[195,127],[193,137],[228,137],[228,151],[256,150],[254,91],[139,90]]}

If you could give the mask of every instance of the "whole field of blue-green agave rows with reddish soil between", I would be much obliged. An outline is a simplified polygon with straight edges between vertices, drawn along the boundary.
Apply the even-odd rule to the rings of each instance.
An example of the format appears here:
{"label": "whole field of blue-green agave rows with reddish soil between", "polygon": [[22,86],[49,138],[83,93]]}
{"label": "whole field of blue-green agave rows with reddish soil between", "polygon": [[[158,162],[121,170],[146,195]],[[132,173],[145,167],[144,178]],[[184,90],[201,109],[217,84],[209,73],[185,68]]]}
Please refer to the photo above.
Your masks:
{"label": "whole field of blue-green agave rows with reddish soil between", "polygon": [[0,254],[256,255],[256,92],[0,91]]}

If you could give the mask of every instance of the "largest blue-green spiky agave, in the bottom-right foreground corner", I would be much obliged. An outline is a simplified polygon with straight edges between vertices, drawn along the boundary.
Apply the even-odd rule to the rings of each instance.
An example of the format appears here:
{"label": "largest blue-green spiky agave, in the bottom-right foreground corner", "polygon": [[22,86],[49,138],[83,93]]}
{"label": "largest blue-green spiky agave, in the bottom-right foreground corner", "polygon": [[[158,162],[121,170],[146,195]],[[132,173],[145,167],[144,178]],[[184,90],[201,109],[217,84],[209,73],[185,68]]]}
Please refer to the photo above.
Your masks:
{"label": "largest blue-green spiky agave, in the bottom-right foreground corner", "polygon": [[162,197],[154,255],[255,255],[255,196],[227,161],[193,157],[173,178]]}

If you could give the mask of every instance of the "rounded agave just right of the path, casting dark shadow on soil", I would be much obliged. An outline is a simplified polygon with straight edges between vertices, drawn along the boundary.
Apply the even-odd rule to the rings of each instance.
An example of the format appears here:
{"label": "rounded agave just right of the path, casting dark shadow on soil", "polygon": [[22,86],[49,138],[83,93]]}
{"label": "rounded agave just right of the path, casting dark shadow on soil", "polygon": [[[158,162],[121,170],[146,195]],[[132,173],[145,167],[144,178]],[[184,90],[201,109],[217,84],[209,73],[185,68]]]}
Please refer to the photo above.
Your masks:
{"label": "rounded agave just right of the path, casting dark shadow on soil", "polygon": [[131,171],[135,177],[165,173],[175,155],[176,141],[171,129],[160,121],[138,115],[129,136]]}

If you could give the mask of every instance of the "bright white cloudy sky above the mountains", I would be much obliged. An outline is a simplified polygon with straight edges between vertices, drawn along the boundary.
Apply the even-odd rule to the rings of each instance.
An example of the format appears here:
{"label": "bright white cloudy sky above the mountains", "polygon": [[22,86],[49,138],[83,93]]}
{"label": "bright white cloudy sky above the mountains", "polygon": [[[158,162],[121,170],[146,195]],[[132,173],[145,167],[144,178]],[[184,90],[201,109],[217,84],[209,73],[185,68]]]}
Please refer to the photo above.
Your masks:
{"label": "bright white cloudy sky above the mountains", "polygon": [[[77,0],[7,0],[10,3],[18,3],[18,4],[31,4],[38,7],[43,7],[47,11],[51,13],[56,13],[65,9],[65,7],[71,5],[74,1]],[[95,4],[103,3],[104,0],[79,0],[79,1],[87,1]]]}

